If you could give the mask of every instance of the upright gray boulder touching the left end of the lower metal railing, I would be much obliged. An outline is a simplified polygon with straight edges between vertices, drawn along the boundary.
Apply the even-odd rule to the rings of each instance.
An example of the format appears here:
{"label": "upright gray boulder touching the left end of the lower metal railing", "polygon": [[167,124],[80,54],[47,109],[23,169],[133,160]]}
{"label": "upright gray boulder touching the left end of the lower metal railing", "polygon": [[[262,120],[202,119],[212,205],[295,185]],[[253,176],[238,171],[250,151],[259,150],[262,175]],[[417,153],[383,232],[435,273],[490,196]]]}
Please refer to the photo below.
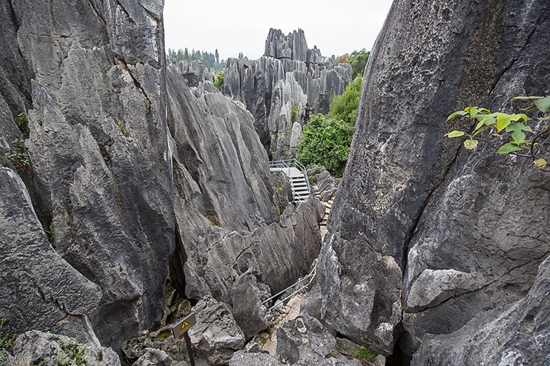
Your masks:
{"label": "upright gray boulder touching the left end of the lower metal railing", "polygon": [[258,282],[259,272],[254,268],[236,277],[231,286],[233,317],[248,341],[270,326],[270,314],[262,301],[271,296],[269,286]]}

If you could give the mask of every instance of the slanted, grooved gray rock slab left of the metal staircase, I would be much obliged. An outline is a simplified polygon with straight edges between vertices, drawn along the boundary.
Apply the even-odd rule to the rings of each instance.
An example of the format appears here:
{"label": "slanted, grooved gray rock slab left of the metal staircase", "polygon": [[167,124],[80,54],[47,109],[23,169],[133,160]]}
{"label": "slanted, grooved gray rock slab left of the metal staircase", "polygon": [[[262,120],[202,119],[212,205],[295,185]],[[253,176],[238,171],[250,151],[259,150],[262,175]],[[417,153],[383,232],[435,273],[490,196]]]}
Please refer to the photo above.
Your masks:
{"label": "slanted, grooved gray rock slab left of the metal staircase", "polygon": [[208,81],[190,90],[175,65],[166,74],[178,223],[170,277],[188,298],[229,304],[251,267],[273,293],[283,290],[316,257],[322,205],[311,199],[279,217],[252,115]]}

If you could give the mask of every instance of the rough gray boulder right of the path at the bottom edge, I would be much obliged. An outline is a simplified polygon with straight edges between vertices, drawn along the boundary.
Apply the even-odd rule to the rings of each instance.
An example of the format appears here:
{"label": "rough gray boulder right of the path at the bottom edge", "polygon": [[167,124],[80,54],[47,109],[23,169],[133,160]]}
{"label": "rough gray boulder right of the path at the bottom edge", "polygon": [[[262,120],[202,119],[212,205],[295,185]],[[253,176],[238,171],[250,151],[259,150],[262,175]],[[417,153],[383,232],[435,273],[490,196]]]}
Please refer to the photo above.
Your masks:
{"label": "rough gray boulder right of the path at the bottom edge", "polygon": [[277,329],[276,354],[285,363],[314,365],[336,352],[336,339],[315,318],[300,315]]}

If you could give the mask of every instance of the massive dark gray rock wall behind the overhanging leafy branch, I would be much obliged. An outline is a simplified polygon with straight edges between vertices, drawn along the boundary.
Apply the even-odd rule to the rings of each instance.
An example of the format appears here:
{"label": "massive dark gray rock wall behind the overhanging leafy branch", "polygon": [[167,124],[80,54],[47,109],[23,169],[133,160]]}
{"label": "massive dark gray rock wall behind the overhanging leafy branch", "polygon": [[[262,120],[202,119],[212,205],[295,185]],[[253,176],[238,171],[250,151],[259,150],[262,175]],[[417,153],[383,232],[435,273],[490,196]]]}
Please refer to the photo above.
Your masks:
{"label": "massive dark gray rock wall behind the overhanging leafy branch", "polygon": [[412,355],[425,334],[531,288],[550,253],[550,176],[443,135],[472,127],[445,123],[456,109],[516,113],[512,97],[550,93],[549,12],[546,1],[393,3],[318,266],[322,317],[338,332],[384,355],[401,337]]}

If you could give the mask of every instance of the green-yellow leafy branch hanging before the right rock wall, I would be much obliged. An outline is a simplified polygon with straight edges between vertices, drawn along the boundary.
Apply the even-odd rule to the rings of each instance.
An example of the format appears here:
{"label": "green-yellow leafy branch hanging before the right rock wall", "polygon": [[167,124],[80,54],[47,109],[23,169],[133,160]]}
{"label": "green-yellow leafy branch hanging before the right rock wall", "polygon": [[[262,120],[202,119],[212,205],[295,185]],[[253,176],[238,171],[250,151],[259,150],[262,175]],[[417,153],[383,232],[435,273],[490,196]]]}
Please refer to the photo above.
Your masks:
{"label": "green-yellow leafy branch hanging before the right rock wall", "polygon": [[[549,113],[550,96],[517,97],[512,100],[534,100],[529,106],[522,108],[522,111],[538,110],[544,114]],[[468,139],[464,141],[464,146],[468,150],[474,150],[478,146],[478,141],[483,141],[494,148],[497,154],[529,157],[533,159],[535,168],[550,172],[547,160],[541,156],[545,152],[543,146],[546,139],[543,140],[543,137],[550,132],[550,115],[531,119],[524,113],[511,115],[500,112],[491,113],[486,108],[470,106],[463,111],[451,113],[447,120],[459,116],[476,119],[477,124],[474,130],[472,133],[453,130],[446,134],[446,137],[467,136]],[[527,139],[527,134],[530,136],[529,139]]]}

